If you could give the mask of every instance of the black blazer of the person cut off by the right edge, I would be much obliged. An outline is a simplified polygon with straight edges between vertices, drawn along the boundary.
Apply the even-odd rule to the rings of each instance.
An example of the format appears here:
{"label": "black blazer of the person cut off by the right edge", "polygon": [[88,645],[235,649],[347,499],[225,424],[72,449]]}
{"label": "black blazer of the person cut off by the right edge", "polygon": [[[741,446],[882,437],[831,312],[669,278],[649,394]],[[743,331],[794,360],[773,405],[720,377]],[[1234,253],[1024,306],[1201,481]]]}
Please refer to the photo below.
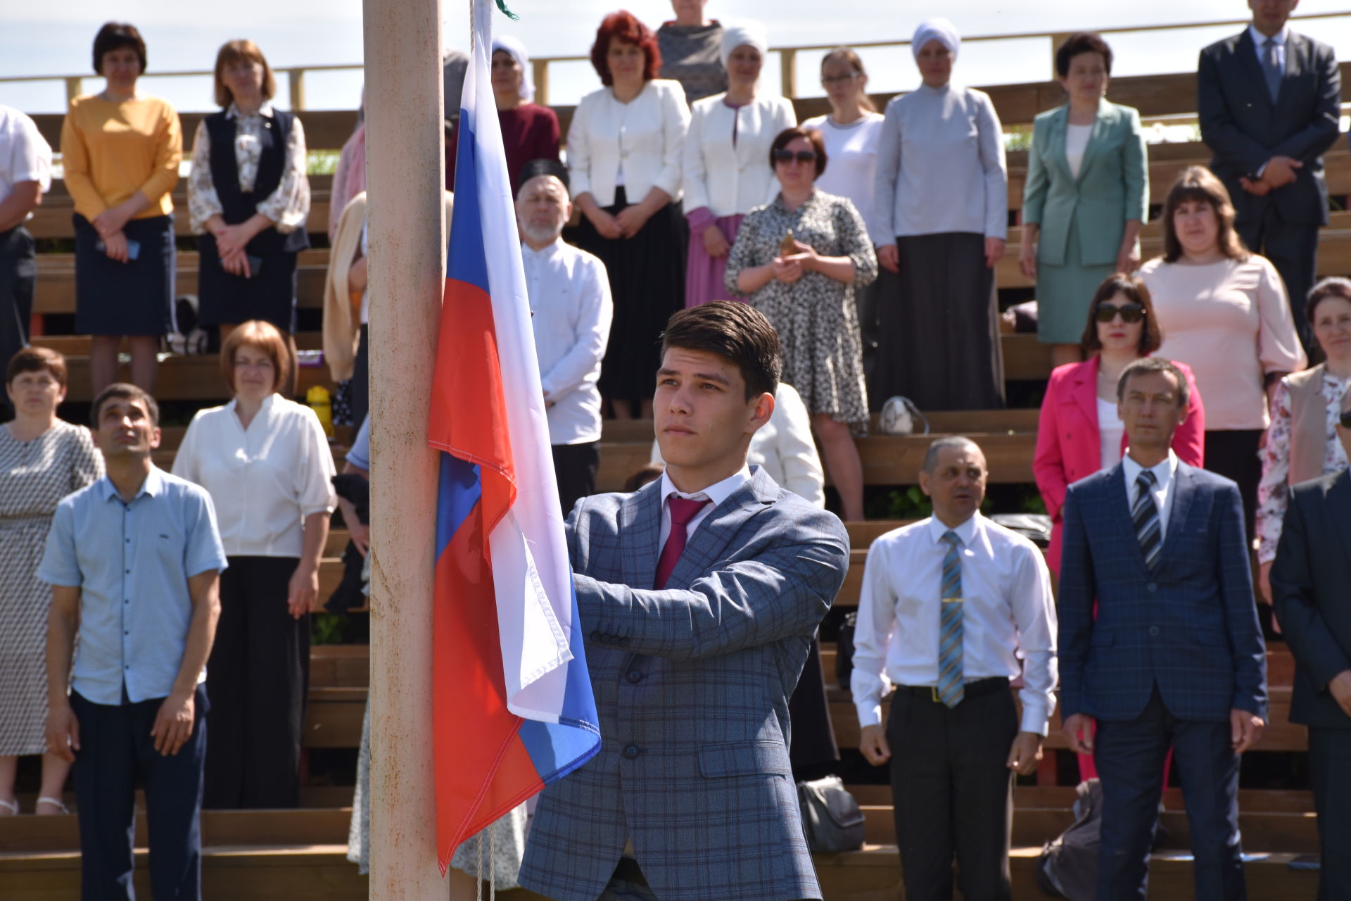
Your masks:
{"label": "black blazer of the person cut off by the right edge", "polygon": [[1292,489],[1271,597],[1294,652],[1290,721],[1351,729],[1328,692],[1332,677],[1351,669],[1351,471]]}

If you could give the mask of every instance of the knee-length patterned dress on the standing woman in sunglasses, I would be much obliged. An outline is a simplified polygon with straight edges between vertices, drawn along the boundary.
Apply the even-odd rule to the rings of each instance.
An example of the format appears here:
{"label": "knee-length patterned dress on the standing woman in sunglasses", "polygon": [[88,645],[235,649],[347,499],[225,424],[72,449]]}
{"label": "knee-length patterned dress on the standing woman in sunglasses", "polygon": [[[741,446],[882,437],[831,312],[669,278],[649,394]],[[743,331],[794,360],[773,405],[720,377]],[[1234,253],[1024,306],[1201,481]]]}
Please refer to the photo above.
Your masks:
{"label": "knee-length patterned dress on the standing woman in sunglasses", "polygon": [[854,281],[844,285],[821,273],[805,273],[792,284],[770,281],[748,300],[774,323],[782,346],[784,381],[797,389],[807,409],[848,423],[855,435],[865,435],[867,389],[854,289],[877,278],[877,255],[854,204],[817,189],[797,209],[784,205],[782,195],[753,209],[727,259],[727,290],[746,296],[738,290],[736,277],[743,269],[778,257],[780,242],[790,228],[793,238],[823,257],[851,258]]}

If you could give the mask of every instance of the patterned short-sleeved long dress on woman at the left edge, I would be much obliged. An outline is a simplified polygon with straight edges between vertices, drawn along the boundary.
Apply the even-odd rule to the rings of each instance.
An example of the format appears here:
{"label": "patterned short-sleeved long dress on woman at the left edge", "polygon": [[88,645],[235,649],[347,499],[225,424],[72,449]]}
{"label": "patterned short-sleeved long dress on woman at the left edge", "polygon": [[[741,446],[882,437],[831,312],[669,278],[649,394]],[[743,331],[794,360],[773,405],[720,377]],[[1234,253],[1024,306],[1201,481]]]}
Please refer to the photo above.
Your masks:
{"label": "patterned short-sleeved long dress on woman at the left edge", "polygon": [[101,475],[82,426],[58,420],[31,442],[0,426],[0,756],[46,750],[51,586],[38,563],[57,503]]}

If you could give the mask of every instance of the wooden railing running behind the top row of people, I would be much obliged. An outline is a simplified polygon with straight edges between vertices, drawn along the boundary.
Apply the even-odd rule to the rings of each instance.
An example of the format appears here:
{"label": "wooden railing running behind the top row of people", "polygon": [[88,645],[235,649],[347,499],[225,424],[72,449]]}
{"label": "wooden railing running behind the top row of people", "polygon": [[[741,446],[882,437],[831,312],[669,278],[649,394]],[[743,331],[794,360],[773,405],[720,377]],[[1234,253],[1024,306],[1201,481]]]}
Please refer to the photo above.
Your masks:
{"label": "wooden railing running behind the top row of people", "polygon": [[[1309,15],[1292,16],[1294,22],[1312,22],[1319,19],[1337,19],[1343,16],[1351,16],[1351,9],[1342,12],[1316,12]],[[1190,28],[1215,28],[1223,26],[1242,27],[1248,23],[1247,19],[1221,19],[1212,22],[1179,22],[1169,24],[1151,24],[1151,26],[1119,26],[1112,28],[1098,28],[1098,34],[1146,34],[1155,31],[1183,31]],[[1061,31],[1027,31],[1027,32],[1013,32],[1013,34],[990,34],[990,35],[971,35],[963,36],[962,43],[981,43],[993,41],[1027,41],[1035,38],[1044,38],[1047,41],[1047,73],[1054,72],[1054,57],[1055,47],[1069,36],[1070,32]],[[780,58],[780,77],[782,85],[782,93],[785,97],[797,97],[797,55],[800,53],[813,53],[831,50],[839,46],[838,43],[819,43],[819,45],[798,45],[792,47],[770,47],[771,54],[778,54]],[[855,49],[881,49],[881,47],[908,47],[909,41],[867,41],[861,43],[850,45]],[[549,69],[553,63],[562,62],[586,62],[589,57],[586,55],[566,55],[566,57],[536,57],[531,59],[531,68],[535,76],[535,100],[540,104],[549,104]],[[350,65],[327,65],[327,66],[281,66],[274,69],[274,72],[286,77],[288,85],[290,88],[290,108],[292,109],[305,109],[305,74],[311,72],[359,72],[362,66],[359,63]],[[207,70],[184,70],[184,72],[151,72],[147,73],[150,77],[209,77],[212,72]],[[61,81],[65,84],[66,99],[78,96],[84,88],[82,82],[85,78],[93,78],[95,76],[3,76],[0,77],[0,85],[14,84],[14,82],[51,82]]]}

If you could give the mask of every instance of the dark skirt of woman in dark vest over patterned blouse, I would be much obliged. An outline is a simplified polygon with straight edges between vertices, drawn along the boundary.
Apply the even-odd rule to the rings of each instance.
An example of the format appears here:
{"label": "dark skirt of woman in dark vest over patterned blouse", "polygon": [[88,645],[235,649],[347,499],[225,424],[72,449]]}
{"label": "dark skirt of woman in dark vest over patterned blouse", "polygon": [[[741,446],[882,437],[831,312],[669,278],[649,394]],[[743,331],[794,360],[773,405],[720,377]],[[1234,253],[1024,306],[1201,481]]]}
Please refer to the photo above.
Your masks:
{"label": "dark skirt of woman in dark vest over patterned blouse", "polygon": [[289,335],[296,331],[296,253],[266,257],[253,277],[227,273],[216,253],[216,236],[197,238],[197,320],[203,326],[238,326],[250,319],[269,321]]}

